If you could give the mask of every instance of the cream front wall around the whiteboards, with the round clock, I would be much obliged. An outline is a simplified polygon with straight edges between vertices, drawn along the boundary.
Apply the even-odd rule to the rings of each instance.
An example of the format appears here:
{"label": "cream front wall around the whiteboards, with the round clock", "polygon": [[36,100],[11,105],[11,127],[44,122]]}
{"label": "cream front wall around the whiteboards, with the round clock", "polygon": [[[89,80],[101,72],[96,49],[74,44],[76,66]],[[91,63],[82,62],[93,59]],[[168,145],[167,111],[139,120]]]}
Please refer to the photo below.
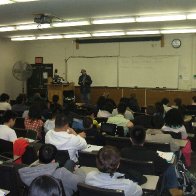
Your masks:
{"label": "cream front wall around the whiteboards, with the round clock", "polygon": [[[171,46],[171,41],[174,38],[181,39],[182,46],[179,49]],[[33,63],[35,56],[43,56],[44,63],[53,63],[54,68],[58,68],[59,74],[63,77],[66,77],[65,59],[70,56],[120,56],[130,58],[134,56],[179,56],[179,73],[176,73],[179,76],[178,86],[179,89],[189,90],[196,88],[196,79],[193,78],[193,75],[196,74],[195,42],[196,36],[194,34],[178,34],[165,35],[164,47],[161,47],[160,42],[128,42],[80,44],[79,49],[76,49],[72,40],[43,40],[25,42],[24,48],[27,61]],[[100,77],[99,75],[93,75],[94,77]],[[146,75],[143,77],[146,77]]]}

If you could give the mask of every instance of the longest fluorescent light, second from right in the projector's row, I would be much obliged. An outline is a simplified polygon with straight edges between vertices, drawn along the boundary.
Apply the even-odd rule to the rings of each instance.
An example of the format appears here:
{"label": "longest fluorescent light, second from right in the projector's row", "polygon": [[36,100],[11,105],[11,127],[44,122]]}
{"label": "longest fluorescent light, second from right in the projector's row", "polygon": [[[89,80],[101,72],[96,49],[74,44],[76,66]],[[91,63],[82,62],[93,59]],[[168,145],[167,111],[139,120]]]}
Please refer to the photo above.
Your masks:
{"label": "longest fluorescent light, second from right in the projector's row", "polygon": [[162,16],[139,16],[136,22],[156,22],[156,21],[175,21],[186,20],[186,15],[162,15]]}

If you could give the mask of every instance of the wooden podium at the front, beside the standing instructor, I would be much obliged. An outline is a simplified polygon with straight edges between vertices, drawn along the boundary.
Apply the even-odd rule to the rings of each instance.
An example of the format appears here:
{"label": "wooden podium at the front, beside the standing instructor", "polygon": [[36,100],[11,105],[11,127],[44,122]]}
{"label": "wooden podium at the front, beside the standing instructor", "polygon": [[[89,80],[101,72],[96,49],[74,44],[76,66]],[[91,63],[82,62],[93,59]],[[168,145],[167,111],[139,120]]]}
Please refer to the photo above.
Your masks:
{"label": "wooden podium at the front, beside the standing instructor", "polygon": [[63,105],[63,98],[65,91],[75,92],[74,82],[68,84],[47,84],[48,88],[48,100],[52,102],[53,95],[59,96],[59,104]]}

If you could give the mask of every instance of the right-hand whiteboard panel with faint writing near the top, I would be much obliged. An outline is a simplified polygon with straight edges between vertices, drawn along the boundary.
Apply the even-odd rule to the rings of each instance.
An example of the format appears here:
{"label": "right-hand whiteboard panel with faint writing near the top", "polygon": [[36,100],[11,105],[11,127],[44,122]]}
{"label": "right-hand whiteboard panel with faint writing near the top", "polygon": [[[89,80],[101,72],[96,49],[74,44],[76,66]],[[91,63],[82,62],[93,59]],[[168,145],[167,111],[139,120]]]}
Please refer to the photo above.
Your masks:
{"label": "right-hand whiteboard panel with faint writing near the top", "polygon": [[178,88],[178,56],[119,59],[120,87]]}

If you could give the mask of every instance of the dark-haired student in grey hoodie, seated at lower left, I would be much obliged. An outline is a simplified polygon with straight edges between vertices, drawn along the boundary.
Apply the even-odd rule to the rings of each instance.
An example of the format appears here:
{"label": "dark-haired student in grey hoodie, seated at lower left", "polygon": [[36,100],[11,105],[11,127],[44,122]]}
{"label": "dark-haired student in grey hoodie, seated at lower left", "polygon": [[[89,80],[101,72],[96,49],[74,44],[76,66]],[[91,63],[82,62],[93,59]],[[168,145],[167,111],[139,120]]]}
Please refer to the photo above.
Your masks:
{"label": "dark-haired student in grey hoodie, seated at lower left", "polygon": [[59,168],[58,163],[54,161],[56,153],[55,146],[51,144],[42,145],[39,150],[39,160],[30,167],[19,169],[19,175],[27,186],[38,176],[52,175],[62,181],[66,196],[71,196],[73,192],[77,191],[77,184],[84,182],[85,174],[80,169],[72,173],[64,167]]}

